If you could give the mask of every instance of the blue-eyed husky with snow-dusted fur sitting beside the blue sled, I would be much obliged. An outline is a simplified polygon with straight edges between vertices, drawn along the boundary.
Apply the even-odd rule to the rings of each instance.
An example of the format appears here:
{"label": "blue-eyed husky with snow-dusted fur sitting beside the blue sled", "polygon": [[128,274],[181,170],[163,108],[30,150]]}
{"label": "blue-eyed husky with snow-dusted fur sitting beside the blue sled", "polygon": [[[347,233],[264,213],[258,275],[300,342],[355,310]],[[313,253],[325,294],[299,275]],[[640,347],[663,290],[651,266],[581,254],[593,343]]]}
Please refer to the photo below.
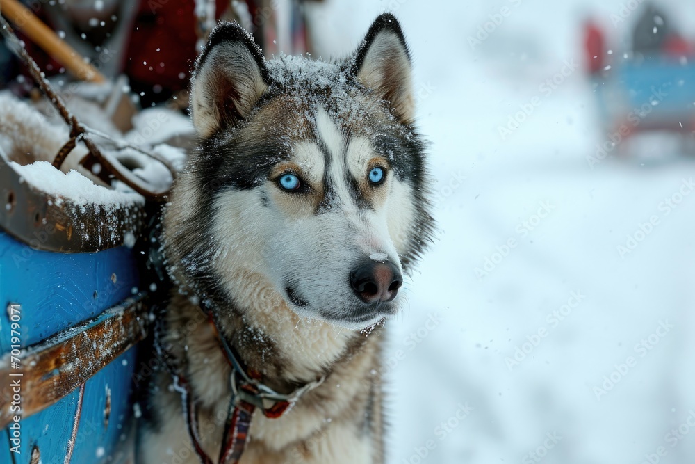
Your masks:
{"label": "blue-eyed husky with snow-dusted fur sitting beside the blue sled", "polygon": [[281,417],[252,413],[240,463],[383,463],[383,321],[433,229],[400,25],[379,16],[327,63],[265,61],[219,24],[190,109],[199,145],[163,216],[178,374],[149,388],[138,462],[228,462],[228,346],[263,385],[303,393]]}

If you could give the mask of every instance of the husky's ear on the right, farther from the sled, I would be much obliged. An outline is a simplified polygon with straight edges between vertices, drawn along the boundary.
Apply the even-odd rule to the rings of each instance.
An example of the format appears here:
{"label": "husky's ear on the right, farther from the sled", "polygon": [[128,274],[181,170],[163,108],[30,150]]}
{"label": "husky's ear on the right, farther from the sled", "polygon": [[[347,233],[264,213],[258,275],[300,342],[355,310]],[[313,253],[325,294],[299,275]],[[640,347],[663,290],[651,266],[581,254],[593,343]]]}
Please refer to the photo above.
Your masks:
{"label": "husky's ear on the right, farther from the sled", "polygon": [[377,97],[391,104],[396,117],[410,124],[415,117],[412,69],[403,31],[389,13],[379,15],[354,56],[352,72]]}

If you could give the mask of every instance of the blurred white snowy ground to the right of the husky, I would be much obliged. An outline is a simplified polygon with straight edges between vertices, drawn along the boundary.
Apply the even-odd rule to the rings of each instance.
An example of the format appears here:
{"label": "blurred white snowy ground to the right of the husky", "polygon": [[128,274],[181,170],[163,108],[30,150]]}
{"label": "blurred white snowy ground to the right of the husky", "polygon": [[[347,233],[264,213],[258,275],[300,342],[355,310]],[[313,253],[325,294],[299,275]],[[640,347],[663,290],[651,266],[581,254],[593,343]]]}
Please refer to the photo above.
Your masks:
{"label": "blurred white snowy ground to the right of the husky", "polygon": [[[401,20],[439,199],[439,237],[389,323],[389,463],[694,463],[695,159],[657,139],[648,159],[592,169],[606,134],[582,69],[539,88],[582,62],[586,13],[620,49],[637,0],[334,3],[316,13],[325,54],[384,9]],[[661,4],[692,32],[692,5]],[[628,235],[641,241],[621,256]]]}

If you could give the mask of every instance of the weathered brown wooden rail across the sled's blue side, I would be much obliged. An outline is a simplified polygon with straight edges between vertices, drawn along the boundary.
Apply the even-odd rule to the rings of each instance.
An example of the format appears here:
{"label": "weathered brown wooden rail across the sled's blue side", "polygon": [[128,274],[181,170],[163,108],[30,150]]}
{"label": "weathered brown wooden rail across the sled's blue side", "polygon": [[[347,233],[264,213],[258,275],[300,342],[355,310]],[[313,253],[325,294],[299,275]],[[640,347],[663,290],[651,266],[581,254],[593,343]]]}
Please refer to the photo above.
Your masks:
{"label": "weathered brown wooden rail across the sled's blue side", "polygon": [[[22,349],[20,369],[12,353],[0,358],[0,430],[13,420],[13,379],[21,379],[22,418],[48,408],[80,388],[119,355],[147,336],[147,310],[142,299],[128,298],[94,319],[63,330]],[[16,354],[16,353],[15,353]],[[16,366],[16,365],[15,365]]]}

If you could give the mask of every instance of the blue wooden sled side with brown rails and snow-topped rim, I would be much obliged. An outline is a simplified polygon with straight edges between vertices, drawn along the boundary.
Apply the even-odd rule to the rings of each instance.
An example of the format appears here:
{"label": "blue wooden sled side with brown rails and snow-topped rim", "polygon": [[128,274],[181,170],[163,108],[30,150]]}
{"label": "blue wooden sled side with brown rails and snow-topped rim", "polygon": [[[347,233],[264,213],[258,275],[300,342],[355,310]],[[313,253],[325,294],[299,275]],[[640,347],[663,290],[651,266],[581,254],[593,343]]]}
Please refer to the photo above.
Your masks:
{"label": "blue wooden sled side with brown rails and snow-topped rim", "polygon": [[146,330],[122,244],[142,229],[145,202],[47,161],[20,164],[30,161],[21,143],[2,142],[0,461],[96,462],[131,416],[129,348]]}

